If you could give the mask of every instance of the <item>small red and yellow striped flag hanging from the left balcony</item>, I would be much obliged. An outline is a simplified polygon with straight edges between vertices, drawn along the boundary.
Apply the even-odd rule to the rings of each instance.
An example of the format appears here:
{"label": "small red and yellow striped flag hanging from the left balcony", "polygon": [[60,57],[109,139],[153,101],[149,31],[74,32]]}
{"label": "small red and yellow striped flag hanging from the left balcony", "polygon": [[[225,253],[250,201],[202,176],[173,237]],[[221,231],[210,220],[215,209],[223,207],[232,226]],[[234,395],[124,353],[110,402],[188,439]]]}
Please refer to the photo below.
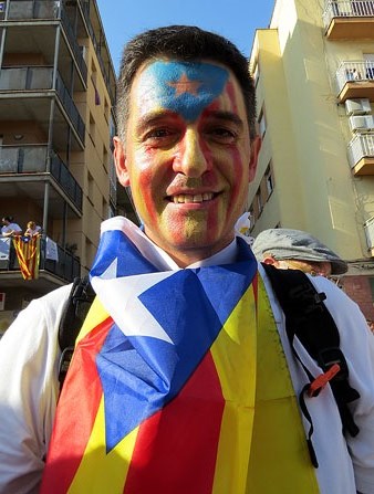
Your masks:
{"label": "small red and yellow striped flag hanging from the left balcony", "polygon": [[38,280],[40,238],[13,237],[13,245],[23,280]]}

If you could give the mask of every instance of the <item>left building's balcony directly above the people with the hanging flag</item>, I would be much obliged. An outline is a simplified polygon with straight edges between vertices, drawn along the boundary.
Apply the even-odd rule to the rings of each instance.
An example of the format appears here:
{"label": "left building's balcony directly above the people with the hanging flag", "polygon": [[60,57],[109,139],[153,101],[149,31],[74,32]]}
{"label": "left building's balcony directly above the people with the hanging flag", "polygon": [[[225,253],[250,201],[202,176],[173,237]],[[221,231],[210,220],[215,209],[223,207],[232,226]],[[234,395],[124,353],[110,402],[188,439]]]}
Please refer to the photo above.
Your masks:
{"label": "left building's balcony directly above the people with the hanging flag", "polygon": [[[53,180],[50,180],[51,178]],[[75,216],[82,214],[82,188],[54,151],[51,153],[49,160],[45,145],[0,146],[0,185],[3,183],[9,189],[11,187],[9,182],[14,183],[14,179],[18,187],[17,196],[22,196],[23,188],[28,190],[28,196],[34,190],[35,198],[40,198],[41,207],[42,197],[40,196],[43,188],[41,183],[38,186],[33,182],[50,181],[54,186],[54,195],[51,192],[51,212],[54,204],[55,209],[61,208],[64,199],[75,210]],[[60,201],[55,196],[60,196]]]}

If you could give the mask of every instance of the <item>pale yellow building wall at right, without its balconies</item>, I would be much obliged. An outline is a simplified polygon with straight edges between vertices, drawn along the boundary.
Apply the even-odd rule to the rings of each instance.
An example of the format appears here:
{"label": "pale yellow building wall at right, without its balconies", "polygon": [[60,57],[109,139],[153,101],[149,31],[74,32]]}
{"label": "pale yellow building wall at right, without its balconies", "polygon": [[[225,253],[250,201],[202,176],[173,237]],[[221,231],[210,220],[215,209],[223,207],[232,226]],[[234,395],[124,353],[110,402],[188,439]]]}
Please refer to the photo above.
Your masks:
{"label": "pale yellow building wall at right, without its balconies", "polygon": [[[277,0],[270,29],[256,32],[250,67],[259,74],[258,115],[264,112],[267,130],[249,190],[256,213],[251,234],[276,227],[301,229],[347,261],[371,260],[364,222],[374,214],[374,176],[351,171],[347,144],[353,135],[337,101],[335,74],[342,62],[374,52],[374,32],[372,40],[330,41],[323,7],[318,0]],[[274,187],[259,213],[257,193],[269,161]],[[345,290],[371,314],[370,284],[357,280],[347,281]]]}

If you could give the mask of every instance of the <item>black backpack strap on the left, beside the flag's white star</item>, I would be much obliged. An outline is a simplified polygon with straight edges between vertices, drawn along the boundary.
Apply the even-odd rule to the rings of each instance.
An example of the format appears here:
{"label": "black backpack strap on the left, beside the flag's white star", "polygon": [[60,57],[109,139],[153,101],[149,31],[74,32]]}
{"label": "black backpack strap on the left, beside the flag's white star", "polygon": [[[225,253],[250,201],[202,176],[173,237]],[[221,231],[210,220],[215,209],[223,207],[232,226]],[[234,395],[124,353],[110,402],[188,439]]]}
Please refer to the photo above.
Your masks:
{"label": "black backpack strap on the left, beside the flag's white star", "polygon": [[76,277],[59,326],[59,345],[61,349],[59,364],[60,390],[74,353],[75,339],[94,298],[95,292],[91,286],[89,276],[83,278]]}

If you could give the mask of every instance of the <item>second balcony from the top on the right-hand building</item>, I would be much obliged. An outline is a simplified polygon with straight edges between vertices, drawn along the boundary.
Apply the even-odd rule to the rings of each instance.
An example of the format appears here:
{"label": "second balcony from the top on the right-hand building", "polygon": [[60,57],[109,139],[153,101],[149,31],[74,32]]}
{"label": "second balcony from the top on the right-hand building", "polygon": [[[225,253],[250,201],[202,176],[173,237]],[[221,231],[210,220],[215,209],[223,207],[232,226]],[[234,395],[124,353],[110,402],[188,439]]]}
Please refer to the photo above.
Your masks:
{"label": "second balcony from the top on the right-hand building", "polygon": [[339,103],[355,98],[373,102],[374,62],[343,62],[336,71],[336,90]]}

